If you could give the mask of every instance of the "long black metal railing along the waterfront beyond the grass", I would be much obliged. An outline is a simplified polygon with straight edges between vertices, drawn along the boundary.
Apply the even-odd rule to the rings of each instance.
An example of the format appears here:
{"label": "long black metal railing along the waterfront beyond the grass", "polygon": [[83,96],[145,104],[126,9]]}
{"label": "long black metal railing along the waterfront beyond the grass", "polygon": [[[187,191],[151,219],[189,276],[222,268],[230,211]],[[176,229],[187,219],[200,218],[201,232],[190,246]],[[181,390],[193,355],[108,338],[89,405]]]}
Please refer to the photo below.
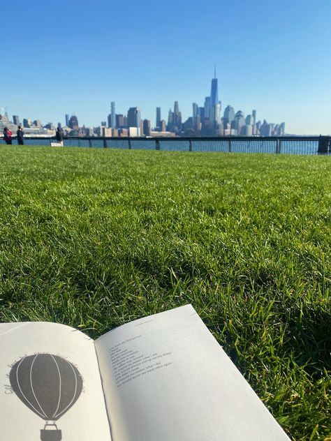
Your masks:
{"label": "long black metal railing along the waterfront beyond the grass", "polygon": [[[50,146],[54,137],[24,137],[24,144]],[[0,144],[4,144],[0,139]],[[17,140],[13,138],[13,144]],[[223,151],[316,155],[331,153],[331,137],[64,137],[64,147]]]}

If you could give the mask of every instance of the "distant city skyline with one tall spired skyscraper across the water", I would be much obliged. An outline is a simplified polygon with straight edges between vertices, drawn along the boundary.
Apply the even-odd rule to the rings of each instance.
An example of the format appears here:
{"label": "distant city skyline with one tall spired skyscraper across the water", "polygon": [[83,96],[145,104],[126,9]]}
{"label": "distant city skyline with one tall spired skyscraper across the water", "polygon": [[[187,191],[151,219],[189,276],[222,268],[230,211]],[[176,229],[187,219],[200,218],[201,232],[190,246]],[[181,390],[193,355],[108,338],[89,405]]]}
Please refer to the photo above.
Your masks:
{"label": "distant city skyline with one tall spired skyscraper across the water", "polygon": [[[285,122],[271,123],[265,119],[257,119],[256,110],[245,116],[242,110],[237,110],[227,105],[223,110],[219,100],[218,78],[216,66],[214,77],[211,81],[210,94],[205,96],[204,105],[192,103],[192,114],[186,120],[179,110],[179,103],[175,101],[173,111],[168,111],[168,121],[162,119],[161,107],[156,107],[155,125],[150,119],[142,117],[139,107],[130,107],[127,114],[117,114],[116,103],[110,103],[110,113],[105,121],[97,126],[79,124],[78,117],[73,114],[65,114],[65,125],[62,130],[69,136],[284,136]],[[223,112],[223,116],[222,116]],[[42,124],[41,119],[32,120],[23,117],[20,122],[19,115],[13,115],[10,120],[5,108],[0,108],[0,129],[8,126],[10,130],[17,130],[21,125],[30,135],[52,135],[56,126],[63,126],[61,121],[54,124],[52,121]]]}

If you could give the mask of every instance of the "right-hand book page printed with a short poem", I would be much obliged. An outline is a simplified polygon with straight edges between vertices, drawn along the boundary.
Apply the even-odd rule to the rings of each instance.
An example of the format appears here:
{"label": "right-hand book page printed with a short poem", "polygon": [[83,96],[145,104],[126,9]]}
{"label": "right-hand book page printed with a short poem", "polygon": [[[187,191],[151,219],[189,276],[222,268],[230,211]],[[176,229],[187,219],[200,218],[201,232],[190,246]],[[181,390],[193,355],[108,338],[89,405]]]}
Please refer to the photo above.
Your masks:
{"label": "right-hand book page printed with a short poem", "polygon": [[191,305],[95,345],[114,441],[289,439]]}

